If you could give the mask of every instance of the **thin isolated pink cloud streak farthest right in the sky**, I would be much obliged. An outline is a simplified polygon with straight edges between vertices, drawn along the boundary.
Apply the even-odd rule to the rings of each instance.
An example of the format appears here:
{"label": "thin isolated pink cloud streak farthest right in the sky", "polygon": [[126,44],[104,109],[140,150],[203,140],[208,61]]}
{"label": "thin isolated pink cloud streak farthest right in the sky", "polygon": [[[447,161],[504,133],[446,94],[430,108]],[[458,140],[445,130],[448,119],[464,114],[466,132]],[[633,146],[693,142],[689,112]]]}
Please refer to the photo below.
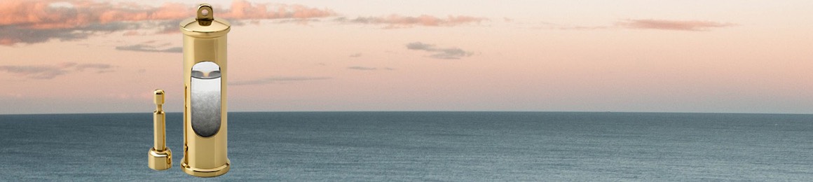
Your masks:
{"label": "thin isolated pink cloud streak farthest right in the sky", "polygon": [[682,31],[707,31],[711,28],[731,27],[737,24],[713,21],[680,21],[680,20],[624,20],[615,23],[624,28],[662,29]]}

